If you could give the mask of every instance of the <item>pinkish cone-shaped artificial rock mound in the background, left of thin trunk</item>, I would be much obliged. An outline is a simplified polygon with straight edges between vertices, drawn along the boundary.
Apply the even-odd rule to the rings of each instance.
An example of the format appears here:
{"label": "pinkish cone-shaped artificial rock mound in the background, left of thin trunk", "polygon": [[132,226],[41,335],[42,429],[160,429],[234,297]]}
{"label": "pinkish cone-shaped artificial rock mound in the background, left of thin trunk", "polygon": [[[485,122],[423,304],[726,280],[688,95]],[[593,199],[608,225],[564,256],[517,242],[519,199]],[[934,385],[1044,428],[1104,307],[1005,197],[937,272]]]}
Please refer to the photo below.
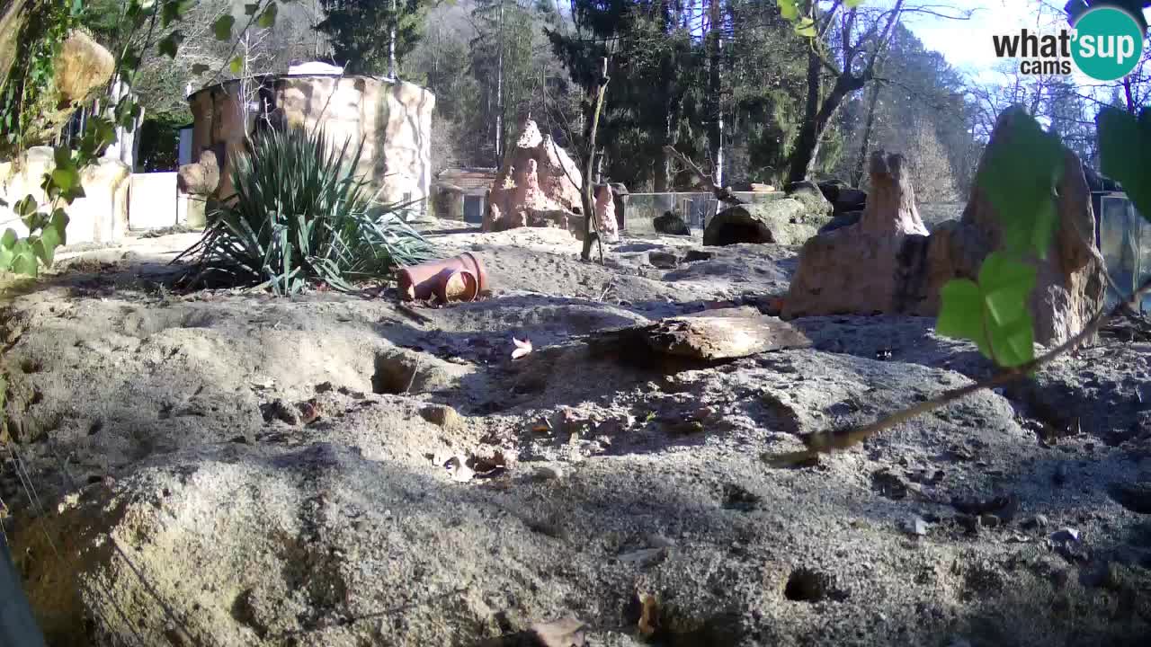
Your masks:
{"label": "pinkish cone-shaped artificial rock mound in the background, left of thin trunk", "polygon": [[527,120],[491,184],[483,230],[547,226],[581,230],[581,183],[576,162]]}

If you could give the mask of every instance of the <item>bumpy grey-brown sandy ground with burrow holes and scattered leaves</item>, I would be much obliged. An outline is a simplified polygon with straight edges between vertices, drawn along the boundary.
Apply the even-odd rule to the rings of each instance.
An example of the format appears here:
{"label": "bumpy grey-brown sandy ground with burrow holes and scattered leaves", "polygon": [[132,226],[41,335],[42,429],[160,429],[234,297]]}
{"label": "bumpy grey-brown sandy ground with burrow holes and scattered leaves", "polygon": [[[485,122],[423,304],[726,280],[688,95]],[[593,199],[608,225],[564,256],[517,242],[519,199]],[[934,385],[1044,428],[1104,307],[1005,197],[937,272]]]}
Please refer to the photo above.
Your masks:
{"label": "bumpy grey-brown sandy ground with burrow holes and scattered leaves", "polygon": [[882,317],[638,365],[586,342],[785,294],[798,250],[625,239],[600,266],[565,231],[453,227],[429,235],[493,294],[416,318],[389,294],[174,294],[195,235],[9,287],[0,496],[53,645],[518,645],[566,615],[587,645],[1146,644],[1151,345],[772,469],[989,367]]}

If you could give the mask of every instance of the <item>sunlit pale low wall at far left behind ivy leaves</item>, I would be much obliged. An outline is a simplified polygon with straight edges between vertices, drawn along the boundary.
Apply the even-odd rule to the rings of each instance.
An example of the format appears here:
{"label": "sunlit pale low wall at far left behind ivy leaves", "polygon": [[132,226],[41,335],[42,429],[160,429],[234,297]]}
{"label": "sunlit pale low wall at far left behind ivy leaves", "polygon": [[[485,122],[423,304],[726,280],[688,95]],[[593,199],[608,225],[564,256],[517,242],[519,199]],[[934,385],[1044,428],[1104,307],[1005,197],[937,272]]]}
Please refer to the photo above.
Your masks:
{"label": "sunlit pale low wall at far left behind ivy leaves", "polygon": [[[40,184],[44,174],[52,173],[55,166],[48,146],[33,146],[14,161],[0,162],[0,198],[8,203],[0,207],[0,230],[12,228],[18,236],[28,235],[12,207],[28,195],[44,205],[47,199]],[[128,166],[114,159],[101,159],[81,173],[85,196],[67,207],[68,244],[112,243],[124,236],[128,176]]]}

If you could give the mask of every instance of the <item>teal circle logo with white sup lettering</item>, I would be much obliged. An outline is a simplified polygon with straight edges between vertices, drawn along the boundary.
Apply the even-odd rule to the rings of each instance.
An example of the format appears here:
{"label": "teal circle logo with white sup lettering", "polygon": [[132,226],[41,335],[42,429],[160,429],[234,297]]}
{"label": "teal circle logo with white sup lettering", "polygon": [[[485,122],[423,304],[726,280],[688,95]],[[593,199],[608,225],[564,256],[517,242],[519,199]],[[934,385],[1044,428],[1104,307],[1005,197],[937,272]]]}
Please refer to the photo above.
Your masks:
{"label": "teal circle logo with white sup lettering", "polygon": [[1072,39],[1072,59],[1096,81],[1123,78],[1143,55],[1143,28],[1114,7],[1097,7],[1080,16]]}

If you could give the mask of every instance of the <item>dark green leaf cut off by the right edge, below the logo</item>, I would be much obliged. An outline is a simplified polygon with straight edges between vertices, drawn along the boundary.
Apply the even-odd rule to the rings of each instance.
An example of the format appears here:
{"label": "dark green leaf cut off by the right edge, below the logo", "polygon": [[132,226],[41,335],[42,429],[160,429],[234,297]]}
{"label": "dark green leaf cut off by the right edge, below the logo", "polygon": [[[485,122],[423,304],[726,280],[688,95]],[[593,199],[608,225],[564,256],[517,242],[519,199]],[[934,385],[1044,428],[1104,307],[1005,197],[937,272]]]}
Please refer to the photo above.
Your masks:
{"label": "dark green leaf cut off by the right edge, below the logo", "polygon": [[1144,109],[1136,119],[1108,106],[1096,123],[1100,170],[1122,184],[1135,208],[1151,220],[1151,112]]}

